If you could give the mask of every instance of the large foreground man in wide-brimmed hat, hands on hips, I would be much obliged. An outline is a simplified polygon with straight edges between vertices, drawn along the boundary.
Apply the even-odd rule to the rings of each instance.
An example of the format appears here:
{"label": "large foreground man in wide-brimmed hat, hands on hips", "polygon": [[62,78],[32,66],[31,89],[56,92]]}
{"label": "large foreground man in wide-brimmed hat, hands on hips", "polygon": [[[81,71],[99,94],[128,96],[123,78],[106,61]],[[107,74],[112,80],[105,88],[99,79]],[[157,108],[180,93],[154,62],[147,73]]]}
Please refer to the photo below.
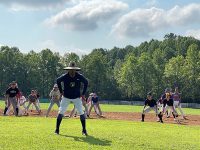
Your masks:
{"label": "large foreground man in wide-brimmed hat, hands on hips", "polygon": [[[76,67],[74,62],[70,62],[69,66],[64,68],[64,70],[67,70],[67,73],[57,79],[58,88],[60,93],[62,94],[62,100],[58,111],[55,133],[59,134],[59,128],[63,115],[69,103],[73,102],[80,115],[82,134],[87,136],[88,134],[86,131],[86,119],[82,108],[82,100],[80,99],[80,97],[85,97],[88,81],[83,75],[77,72],[80,70],[80,68]],[[62,89],[61,83],[63,83],[64,89]],[[83,83],[82,93],[80,92],[81,83]]]}

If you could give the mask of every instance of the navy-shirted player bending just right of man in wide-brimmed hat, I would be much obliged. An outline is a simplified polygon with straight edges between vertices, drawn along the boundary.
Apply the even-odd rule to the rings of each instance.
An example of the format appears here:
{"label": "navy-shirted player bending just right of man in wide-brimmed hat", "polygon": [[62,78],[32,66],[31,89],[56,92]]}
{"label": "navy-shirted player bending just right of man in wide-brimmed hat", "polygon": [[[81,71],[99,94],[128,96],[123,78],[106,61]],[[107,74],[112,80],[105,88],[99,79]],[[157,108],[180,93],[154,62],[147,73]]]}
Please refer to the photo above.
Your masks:
{"label": "navy-shirted player bending just right of man in wide-brimmed hat", "polygon": [[94,107],[96,114],[98,116],[102,117],[102,111],[101,111],[101,108],[100,108],[100,105],[99,105],[99,97],[97,96],[96,93],[93,93],[93,95],[91,97],[91,106],[89,108],[89,115],[90,115],[93,107]]}

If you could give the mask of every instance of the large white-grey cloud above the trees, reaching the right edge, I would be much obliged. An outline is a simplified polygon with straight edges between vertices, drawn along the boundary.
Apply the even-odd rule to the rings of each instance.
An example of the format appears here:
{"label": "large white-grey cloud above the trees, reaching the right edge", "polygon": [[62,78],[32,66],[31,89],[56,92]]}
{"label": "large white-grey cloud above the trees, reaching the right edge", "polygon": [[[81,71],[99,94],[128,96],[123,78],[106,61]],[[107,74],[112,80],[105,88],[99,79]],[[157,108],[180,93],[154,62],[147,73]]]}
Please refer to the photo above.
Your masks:
{"label": "large white-grey cloud above the trees, reaching the right edge", "polygon": [[166,11],[159,8],[136,9],[122,16],[113,26],[112,34],[118,37],[140,38],[171,27],[200,23],[200,4],[175,6]]}

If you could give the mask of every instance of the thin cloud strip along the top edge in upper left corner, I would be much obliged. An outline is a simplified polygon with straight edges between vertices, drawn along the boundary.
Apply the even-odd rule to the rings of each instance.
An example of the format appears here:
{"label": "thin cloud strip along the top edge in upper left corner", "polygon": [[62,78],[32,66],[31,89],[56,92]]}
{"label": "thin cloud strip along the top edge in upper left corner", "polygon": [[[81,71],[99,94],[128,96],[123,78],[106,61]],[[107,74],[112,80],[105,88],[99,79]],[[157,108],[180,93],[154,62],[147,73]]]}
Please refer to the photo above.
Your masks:
{"label": "thin cloud strip along the top edge in upper left corner", "polygon": [[52,9],[64,5],[71,0],[1,0],[0,5],[15,11]]}

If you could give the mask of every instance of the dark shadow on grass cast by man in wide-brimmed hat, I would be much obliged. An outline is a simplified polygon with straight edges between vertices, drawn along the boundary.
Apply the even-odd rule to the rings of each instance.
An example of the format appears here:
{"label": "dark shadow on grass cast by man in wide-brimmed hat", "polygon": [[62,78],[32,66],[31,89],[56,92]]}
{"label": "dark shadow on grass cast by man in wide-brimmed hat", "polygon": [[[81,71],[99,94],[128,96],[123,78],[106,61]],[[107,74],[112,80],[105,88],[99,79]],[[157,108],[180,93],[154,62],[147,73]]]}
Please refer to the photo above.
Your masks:
{"label": "dark shadow on grass cast by man in wide-brimmed hat", "polygon": [[86,142],[89,144],[93,144],[93,145],[101,145],[101,146],[110,146],[111,145],[111,141],[106,140],[106,139],[99,139],[96,137],[93,137],[91,135],[88,135],[86,137],[78,137],[78,136],[70,136],[70,135],[61,135],[60,136],[64,136],[67,138],[73,138],[75,141],[78,142]]}

